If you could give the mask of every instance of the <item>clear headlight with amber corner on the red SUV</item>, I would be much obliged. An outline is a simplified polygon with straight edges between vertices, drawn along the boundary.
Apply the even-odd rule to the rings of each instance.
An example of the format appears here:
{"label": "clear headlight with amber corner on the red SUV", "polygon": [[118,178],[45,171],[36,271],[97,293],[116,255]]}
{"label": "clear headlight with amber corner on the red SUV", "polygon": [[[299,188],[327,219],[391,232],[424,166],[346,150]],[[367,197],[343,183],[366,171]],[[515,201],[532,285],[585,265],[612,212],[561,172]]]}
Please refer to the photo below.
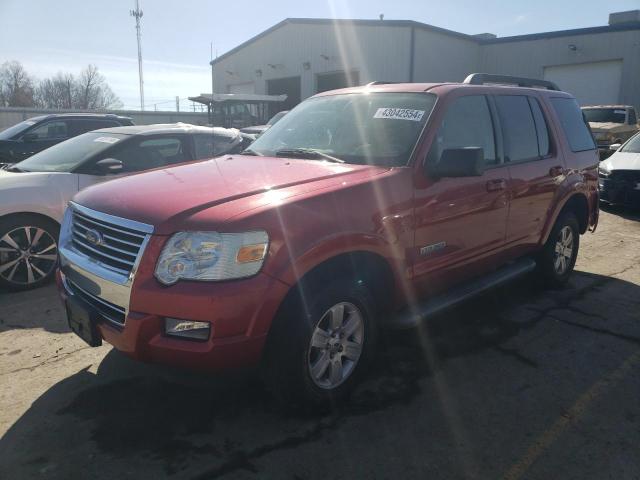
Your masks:
{"label": "clear headlight with amber corner on the red SUV", "polygon": [[264,231],[176,233],[162,249],[155,276],[165,285],[250,277],[260,271],[268,246]]}

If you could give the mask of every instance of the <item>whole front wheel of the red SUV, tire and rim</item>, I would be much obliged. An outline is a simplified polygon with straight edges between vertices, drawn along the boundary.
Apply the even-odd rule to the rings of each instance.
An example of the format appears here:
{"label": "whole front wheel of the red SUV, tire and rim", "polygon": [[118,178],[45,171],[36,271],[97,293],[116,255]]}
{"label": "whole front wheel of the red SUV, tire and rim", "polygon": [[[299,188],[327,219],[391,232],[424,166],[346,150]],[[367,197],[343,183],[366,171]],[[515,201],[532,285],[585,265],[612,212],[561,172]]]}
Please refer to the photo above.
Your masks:
{"label": "whole front wheel of the red SUV, tire and rim", "polygon": [[268,387],[283,406],[326,410],[348,396],[375,351],[374,302],[355,281],[338,281],[285,305],[269,334]]}

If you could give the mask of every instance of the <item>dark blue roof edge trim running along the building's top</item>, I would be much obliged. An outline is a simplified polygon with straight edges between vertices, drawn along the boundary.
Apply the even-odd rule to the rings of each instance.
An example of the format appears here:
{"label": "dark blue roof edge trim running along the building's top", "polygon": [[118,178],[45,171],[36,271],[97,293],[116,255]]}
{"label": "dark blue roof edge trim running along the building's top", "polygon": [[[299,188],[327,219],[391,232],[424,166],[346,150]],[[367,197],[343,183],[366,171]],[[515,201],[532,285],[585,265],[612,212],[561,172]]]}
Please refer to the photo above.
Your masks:
{"label": "dark blue roof edge trim running along the building's top", "polygon": [[571,30],[558,30],[554,32],[542,32],[542,33],[532,33],[527,35],[514,35],[511,37],[496,37],[496,38],[488,38],[487,34],[480,35],[468,35],[466,33],[456,32],[454,30],[448,30],[446,28],[436,27],[434,25],[429,25],[428,23],[416,22],[414,20],[362,20],[362,19],[334,19],[334,18],[285,18],[279,23],[276,23],[274,26],[268,28],[264,32],[259,33],[258,35],[250,38],[246,42],[241,43],[235,48],[232,48],[228,52],[223,53],[218,58],[211,60],[209,62],[211,65],[215,65],[221,60],[233,55],[237,51],[249,46],[252,43],[257,42],[262,37],[267,36],[268,34],[278,30],[281,27],[284,27],[288,24],[297,24],[297,25],[361,25],[361,26],[375,26],[375,27],[413,27],[421,30],[428,30],[431,32],[442,33],[444,35],[449,35],[452,37],[463,38],[466,40],[470,40],[472,42],[476,42],[478,44],[492,44],[492,43],[507,43],[507,42],[519,42],[523,40],[538,40],[543,38],[554,38],[554,37],[568,37],[574,35],[588,35],[588,34],[597,34],[597,33],[609,33],[609,32],[620,32],[626,30],[640,30],[640,22],[625,22],[625,23],[616,23],[613,25],[605,25],[600,27],[588,27],[588,28],[575,28]]}

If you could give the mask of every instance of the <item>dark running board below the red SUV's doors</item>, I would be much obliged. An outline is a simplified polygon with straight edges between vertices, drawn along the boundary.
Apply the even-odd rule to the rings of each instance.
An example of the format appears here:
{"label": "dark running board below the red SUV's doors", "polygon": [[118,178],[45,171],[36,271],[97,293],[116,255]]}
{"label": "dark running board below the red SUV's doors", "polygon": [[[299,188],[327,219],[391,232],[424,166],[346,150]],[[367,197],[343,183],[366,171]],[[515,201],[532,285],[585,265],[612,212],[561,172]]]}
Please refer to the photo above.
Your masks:
{"label": "dark running board below the red SUV's doors", "polygon": [[389,326],[398,329],[414,328],[426,318],[502,285],[503,283],[510,282],[514,278],[532,271],[535,267],[536,262],[531,258],[522,258],[509,263],[488,275],[464,283],[448,292],[436,295],[424,303],[419,303],[413,311],[408,308],[400,311],[390,320]]}

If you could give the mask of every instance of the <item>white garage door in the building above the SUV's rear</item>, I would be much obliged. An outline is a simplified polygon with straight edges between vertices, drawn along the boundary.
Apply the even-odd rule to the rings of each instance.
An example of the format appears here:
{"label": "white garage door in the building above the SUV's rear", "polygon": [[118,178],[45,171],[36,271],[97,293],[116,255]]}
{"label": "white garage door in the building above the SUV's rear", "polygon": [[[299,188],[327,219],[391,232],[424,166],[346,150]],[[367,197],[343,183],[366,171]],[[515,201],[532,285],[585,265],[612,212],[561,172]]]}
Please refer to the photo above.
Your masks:
{"label": "white garage door in the building above the SUV's rear", "polygon": [[580,105],[618,103],[621,78],[622,60],[544,68],[544,79],[574,95]]}

